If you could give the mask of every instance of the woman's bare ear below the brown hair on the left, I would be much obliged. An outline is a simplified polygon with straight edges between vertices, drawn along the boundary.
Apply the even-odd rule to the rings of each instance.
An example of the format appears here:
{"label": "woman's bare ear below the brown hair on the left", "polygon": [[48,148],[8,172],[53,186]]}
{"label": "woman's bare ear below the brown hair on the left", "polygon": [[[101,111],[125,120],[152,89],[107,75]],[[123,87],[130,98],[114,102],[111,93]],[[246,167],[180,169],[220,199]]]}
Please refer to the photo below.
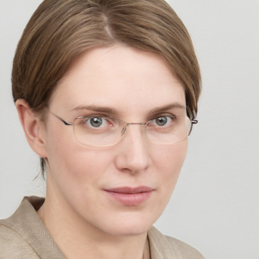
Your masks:
{"label": "woman's bare ear below the brown hair on the left", "polygon": [[35,113],[33,113],[25,100],[18,99],[15,106],[30,147],[40,157],[47,158],[44,124],[35,117]]}

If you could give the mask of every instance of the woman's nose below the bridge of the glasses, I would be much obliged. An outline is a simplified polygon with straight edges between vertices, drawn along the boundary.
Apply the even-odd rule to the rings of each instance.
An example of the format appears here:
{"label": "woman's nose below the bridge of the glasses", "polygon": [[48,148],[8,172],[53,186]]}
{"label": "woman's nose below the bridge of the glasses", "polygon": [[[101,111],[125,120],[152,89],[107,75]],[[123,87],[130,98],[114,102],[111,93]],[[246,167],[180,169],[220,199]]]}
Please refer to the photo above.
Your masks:
{"label": "woman's nose below the bridge of the glasses", "polygon": [[128,125],[125,137],[118,144],[119,151],[115,161],[118,169],[136,173],[149,167],[150,147],[143,130],[140,123]]}

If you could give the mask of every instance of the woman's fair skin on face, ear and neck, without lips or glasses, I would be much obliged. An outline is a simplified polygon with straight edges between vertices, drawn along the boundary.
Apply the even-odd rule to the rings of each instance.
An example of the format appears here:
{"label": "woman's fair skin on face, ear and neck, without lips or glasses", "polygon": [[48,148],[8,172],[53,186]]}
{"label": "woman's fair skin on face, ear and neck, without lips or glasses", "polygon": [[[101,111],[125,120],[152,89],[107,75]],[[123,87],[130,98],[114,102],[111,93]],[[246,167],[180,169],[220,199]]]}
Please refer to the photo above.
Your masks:
{"label": "woman's fair skin on face, ear and neck, without lips or glasses", "polygon": [[[113,108],[116,114],[101,114],[127,122],[146,122],[154,117],[154,108],[174,103],[185,107],[184,89],[162,58],[114,45],[81,54],[58,83],[49,108],[68,122],[100,114],[74,110],[85,105]],[[118,144],[90,147],[51,113],[42,123],[24,100],[16,107],[30,146],[47,160],[46,201],[38,215],[63,253],[68,258],[106,259],[140,259],[144,253],[149,258],[147,231],[175,188],[187,140],[153,144],[140,125],[130,125]],[[122,204],[105,191],[125,186],[153,191],[136,206]]]}

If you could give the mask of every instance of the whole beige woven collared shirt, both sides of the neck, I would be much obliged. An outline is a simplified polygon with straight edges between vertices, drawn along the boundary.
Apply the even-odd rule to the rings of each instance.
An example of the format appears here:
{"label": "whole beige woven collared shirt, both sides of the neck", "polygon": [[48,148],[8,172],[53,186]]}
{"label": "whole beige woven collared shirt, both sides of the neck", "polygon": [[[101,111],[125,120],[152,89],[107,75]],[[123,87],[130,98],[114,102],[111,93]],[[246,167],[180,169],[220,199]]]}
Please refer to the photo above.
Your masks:
{"label": "whole beige woven collared shirt, both sides of the neck", "polygon": [[[66,259],[36,210],[44,198],[25,197],[6,220],[0,220],[0,259]],[[204,259],[193,247],[156,228],[148,231],[151,259]]]}

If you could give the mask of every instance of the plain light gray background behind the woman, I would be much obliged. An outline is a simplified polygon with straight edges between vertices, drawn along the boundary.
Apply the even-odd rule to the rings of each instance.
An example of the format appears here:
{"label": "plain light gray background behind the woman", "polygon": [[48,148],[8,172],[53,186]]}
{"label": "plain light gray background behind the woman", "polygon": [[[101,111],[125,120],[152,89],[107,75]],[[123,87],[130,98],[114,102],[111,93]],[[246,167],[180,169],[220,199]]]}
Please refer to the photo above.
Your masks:
{"label": "plain light gray background behind the woman", "polygon": [[[40,0],[0,0],[0,218],[24,195],[44,195],[33,181],[30,150],[11,97],[12,58]],[[193,38],[203,93],[186,162],[155,224],[207,259],[259,258],[259,1],[168,0]]]}

